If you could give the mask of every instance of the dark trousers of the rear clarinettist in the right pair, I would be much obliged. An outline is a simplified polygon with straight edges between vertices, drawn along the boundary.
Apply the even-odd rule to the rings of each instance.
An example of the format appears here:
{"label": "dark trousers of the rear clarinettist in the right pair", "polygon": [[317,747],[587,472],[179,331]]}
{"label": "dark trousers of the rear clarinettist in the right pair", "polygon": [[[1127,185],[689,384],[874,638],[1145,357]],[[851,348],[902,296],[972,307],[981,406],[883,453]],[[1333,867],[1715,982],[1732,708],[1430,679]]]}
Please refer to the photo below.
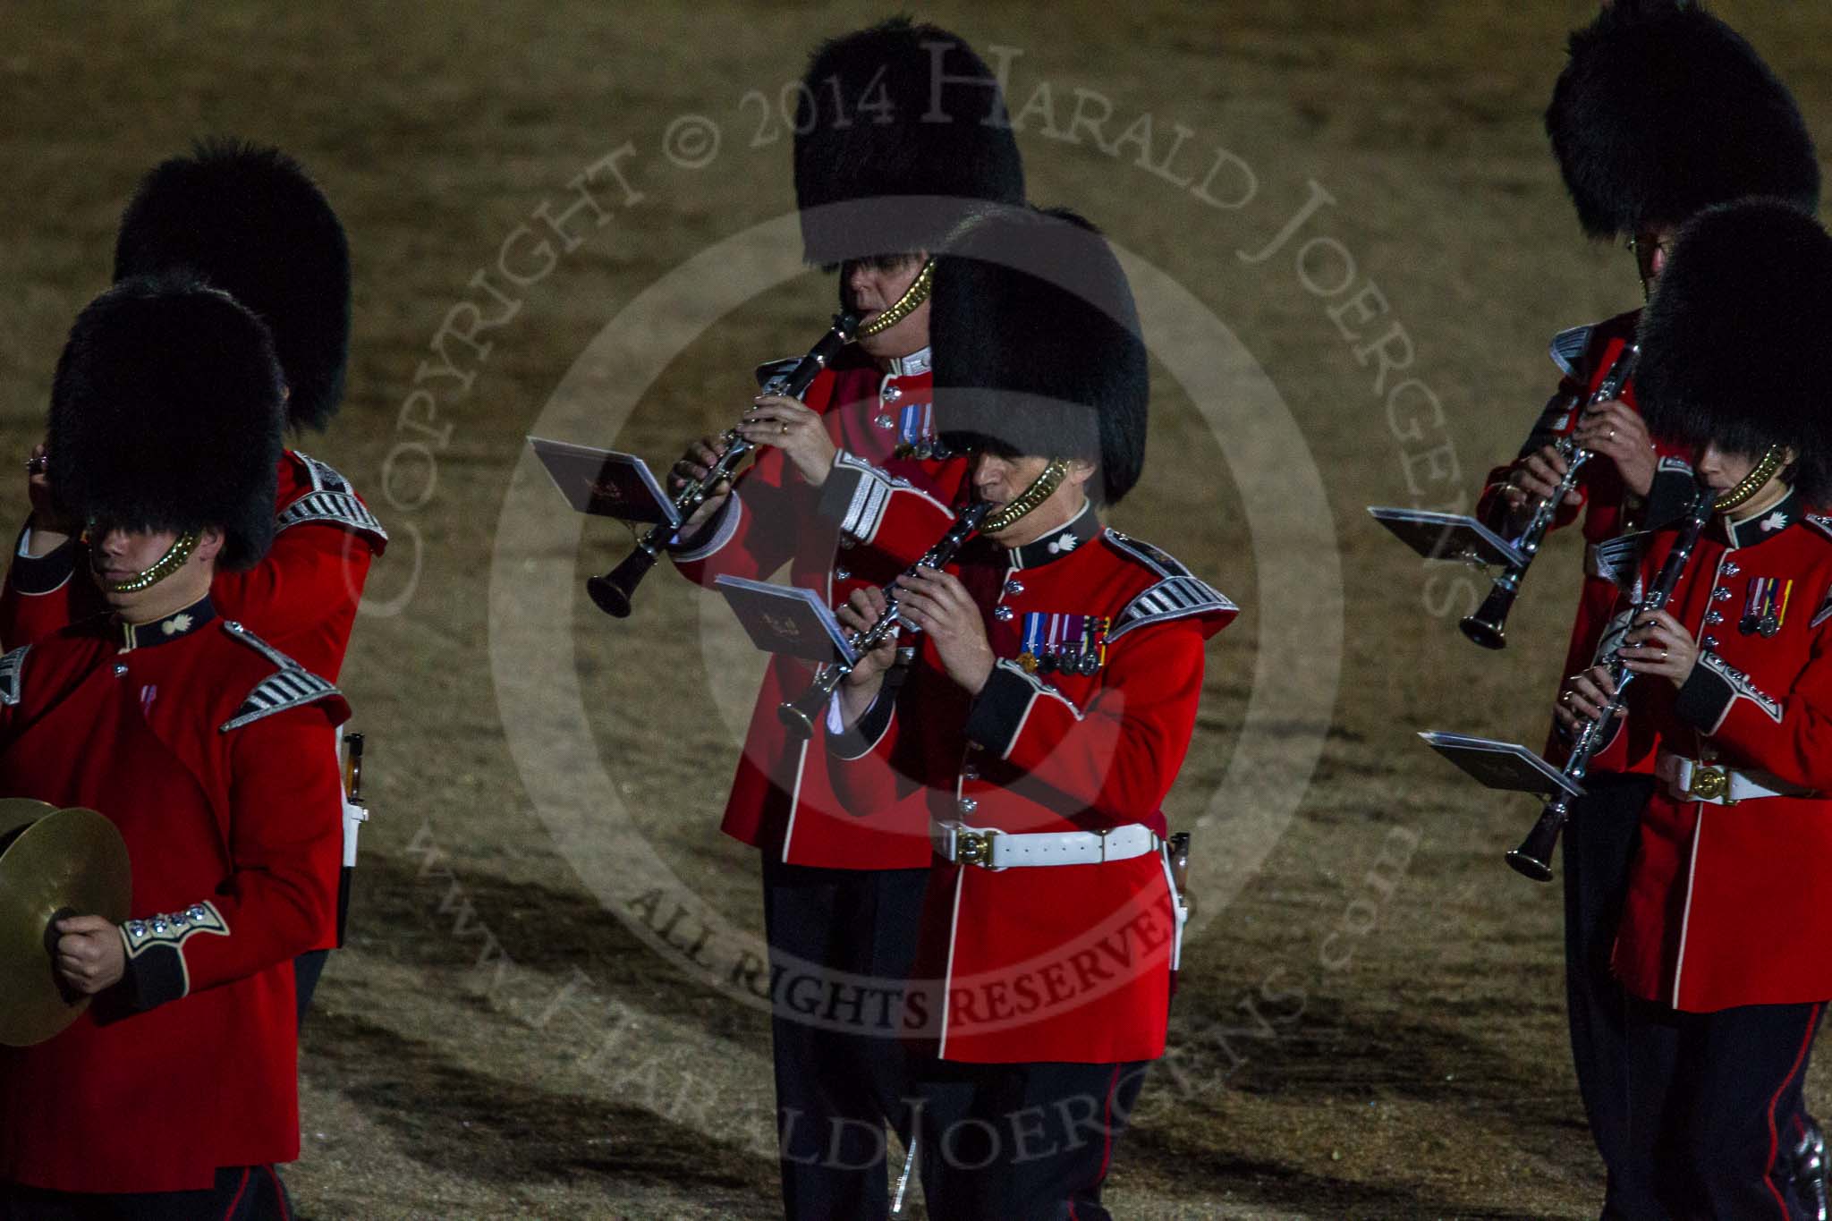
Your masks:
{"label": "dark trousers of the rear clarinettist in the right pair", "polygon": [[[1629,1161],[1629,998],[1610,970],[1616,928],[1640,840],[1641,807],[1654,791],[1645,776],[1598,774],[1565,826],[1565,1016],[1590,1139],[1608,1175],[1607,1201],[1621,1192]],[[1605,1205],[1610,1216],[1614,1203]]]}

